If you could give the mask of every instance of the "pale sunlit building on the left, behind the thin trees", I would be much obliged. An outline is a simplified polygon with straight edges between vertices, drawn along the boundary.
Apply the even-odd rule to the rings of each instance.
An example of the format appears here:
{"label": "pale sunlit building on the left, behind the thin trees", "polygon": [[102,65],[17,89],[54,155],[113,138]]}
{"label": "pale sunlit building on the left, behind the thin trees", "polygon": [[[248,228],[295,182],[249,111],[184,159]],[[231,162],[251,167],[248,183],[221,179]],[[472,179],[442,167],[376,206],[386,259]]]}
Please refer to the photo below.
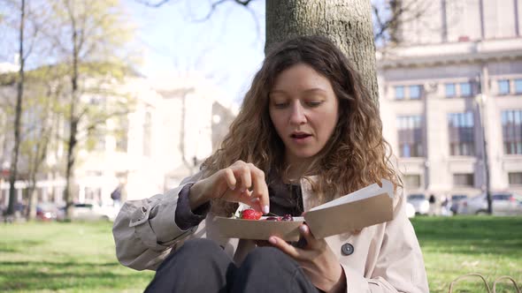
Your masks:
{"label": "pale sunlit building on the left, behind the thin trees", "polygon": [[[86,133],[89,139],[78,146],[74,177],[74,202],[111,205],[111,192],[125,184],[125,199],[144,199],[178,185],[194,174],[205,157],[216,149],[224,125],[237,110],[224,101],[224,94],[208,80],[191,72],[165,79],[127,77],[123,82],[105,84],[111,91],[130,96],[132,110],[111,116]],[[8,86],[9,87],[9,86]],[[4,92],[12,88],[3,88]],[[104,103],[110,96],[83,95],[84,103]],[[0,116],[4,111],[0,110]],[[4,113],[5,114],[5,113]],[[7,119],[11,120],[11,119]],[[59,119],[58,119],[59,120]],[[2,124],[9,128],[8,124]],[[5,128],[4,127],[4,128]],[[66,134],[63,119],[56,123],[57,133]],[[0,132],[0,154],[8,169],[12,149],[10,131]],[[56,139],[55,139],[56,140]],[[7,143],[4,143],[7,142]],[[55,141],[56,142],[56,141]],[[65,205],[65,146],[52,144],[46,158],[46,169],[36,184],[38,202]],[[27,169],[20,160],[19,169]],[[15,184],[19,202],[27,202],[27,181]],[[0,179],[0,206],[8,204],[7,177]]]}

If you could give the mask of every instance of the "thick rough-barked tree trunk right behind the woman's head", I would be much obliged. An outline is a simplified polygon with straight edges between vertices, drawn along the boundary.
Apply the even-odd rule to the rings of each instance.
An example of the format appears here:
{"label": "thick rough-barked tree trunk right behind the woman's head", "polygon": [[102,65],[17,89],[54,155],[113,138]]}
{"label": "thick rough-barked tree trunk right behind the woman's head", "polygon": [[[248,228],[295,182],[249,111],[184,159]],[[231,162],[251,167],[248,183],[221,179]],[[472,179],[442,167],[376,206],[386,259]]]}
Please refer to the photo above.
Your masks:
{"label": "thick rough-barked tree trunk right behind the woman's head", "polygon": [[325,35],[342,49],[379,101],[370,0],[266,0],[265,50],[300,35]]}

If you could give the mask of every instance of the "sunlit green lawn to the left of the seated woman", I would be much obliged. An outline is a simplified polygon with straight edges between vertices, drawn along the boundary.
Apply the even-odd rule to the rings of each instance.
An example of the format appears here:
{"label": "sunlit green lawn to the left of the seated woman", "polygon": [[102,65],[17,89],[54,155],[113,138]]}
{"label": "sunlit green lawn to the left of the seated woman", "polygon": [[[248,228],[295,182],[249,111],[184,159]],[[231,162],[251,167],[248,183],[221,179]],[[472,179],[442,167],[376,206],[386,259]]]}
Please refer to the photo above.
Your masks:
{"label": "sunlit green lawn to the left of the seated woman", "polygon": [[0,225],[0,292],[142,292],[152,276],[119,265],[110,222]]}

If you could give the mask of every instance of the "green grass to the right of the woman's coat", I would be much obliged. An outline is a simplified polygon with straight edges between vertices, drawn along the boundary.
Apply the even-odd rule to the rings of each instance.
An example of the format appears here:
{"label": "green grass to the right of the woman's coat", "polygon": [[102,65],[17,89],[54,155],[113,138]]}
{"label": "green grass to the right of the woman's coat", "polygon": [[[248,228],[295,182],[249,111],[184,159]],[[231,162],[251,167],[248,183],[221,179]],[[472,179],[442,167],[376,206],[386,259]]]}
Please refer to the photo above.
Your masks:
{"label": "green grass to the right of the woman's coat", "polygon": [[[431,292],[448,292],[449,282],[467,273],[483,274],[491,288],[496,278],[506,274],[522,286],[522,217],[415,217],[411,222],[424,254]],[[472,278],[458,282],[455,291],[486,289],[480,278]],[[501,292],[516,290],[509,282],[501,282],[496,293]]]}

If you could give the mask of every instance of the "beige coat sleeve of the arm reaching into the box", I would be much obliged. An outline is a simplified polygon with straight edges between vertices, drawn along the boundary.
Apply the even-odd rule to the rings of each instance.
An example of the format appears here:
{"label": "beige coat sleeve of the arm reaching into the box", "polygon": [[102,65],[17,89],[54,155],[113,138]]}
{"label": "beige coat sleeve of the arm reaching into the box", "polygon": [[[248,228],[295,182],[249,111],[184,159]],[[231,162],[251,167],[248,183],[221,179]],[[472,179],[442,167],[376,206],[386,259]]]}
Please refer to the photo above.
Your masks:
{"label": "beige coat sleeve of the arm reaching into the box", "polygon": [[180,186],[149,199],[128,200],[112,226],[119,262],[137,270],[156,269],[171,252],[197,229],[180,229],[174,220],[178,196],[185,184],[201,177],[184,179]]}

